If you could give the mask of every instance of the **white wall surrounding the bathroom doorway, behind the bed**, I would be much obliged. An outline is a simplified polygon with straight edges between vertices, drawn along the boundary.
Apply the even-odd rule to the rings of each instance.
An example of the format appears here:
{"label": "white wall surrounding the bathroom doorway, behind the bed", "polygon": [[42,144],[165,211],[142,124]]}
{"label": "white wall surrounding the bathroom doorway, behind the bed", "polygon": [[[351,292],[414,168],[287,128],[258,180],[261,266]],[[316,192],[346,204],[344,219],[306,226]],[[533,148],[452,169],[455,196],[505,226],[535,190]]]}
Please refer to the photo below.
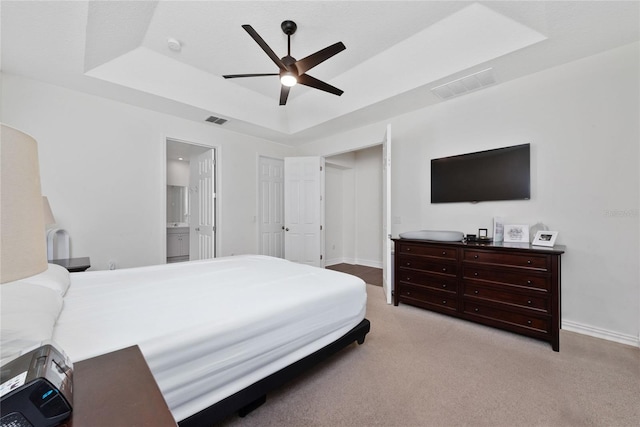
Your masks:
{"label": "white wall surrounding the bathroom doorway, behind the bed", "polygon": [[38,141],[43,194],[92,269],[165,262],[166,138],[218,147],[218,255],[257,253],[258,155],[292,149],[2,74],[2,118]]}

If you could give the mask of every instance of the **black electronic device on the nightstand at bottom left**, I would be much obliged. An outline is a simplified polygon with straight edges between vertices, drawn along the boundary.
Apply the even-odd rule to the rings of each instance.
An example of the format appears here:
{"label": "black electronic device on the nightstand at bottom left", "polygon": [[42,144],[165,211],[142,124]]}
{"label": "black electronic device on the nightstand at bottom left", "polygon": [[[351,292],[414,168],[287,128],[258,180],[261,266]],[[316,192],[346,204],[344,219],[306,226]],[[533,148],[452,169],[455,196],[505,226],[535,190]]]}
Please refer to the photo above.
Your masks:
{"label": "black electronic device on the nightstand at bottom left", "polygon": [[71,415],[73,367],[51,344],[4,364],[0,384],[1,427],[56,426]]}

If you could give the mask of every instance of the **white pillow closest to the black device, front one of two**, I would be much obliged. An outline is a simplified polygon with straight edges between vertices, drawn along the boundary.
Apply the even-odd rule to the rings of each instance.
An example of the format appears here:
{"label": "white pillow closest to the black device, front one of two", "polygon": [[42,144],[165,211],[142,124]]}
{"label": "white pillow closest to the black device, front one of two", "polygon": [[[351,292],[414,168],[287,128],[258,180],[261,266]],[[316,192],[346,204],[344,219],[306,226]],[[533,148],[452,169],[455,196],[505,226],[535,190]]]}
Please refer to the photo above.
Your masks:
{"label": "white pillow closest to the black device, front one of two", "polygon": [[56,290],[20,280],[0,285],[0,358],[50,340],[61,311]]}

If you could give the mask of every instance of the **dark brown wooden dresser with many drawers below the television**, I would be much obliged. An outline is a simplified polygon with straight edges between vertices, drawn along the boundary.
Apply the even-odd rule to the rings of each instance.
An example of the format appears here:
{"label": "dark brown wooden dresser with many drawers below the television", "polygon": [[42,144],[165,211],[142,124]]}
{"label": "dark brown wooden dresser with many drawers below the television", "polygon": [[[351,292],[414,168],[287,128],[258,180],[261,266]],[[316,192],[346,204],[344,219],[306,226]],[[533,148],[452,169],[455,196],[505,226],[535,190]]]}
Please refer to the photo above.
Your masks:
{"label": "dark brown wooden dresser with many drawers below the television", "polygon": [[393,241],[394,305],[505,329],[560,350],[564,246]]}

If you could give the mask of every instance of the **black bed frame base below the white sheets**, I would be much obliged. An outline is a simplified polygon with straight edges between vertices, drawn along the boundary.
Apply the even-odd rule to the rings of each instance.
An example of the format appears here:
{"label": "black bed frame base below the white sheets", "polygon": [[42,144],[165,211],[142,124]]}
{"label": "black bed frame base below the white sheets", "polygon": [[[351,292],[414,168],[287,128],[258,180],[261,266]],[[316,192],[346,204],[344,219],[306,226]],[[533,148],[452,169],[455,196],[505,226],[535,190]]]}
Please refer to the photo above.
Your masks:
{"label": "black bed frame base below the white sheets", "polygon": [[212,406],[185,418],[180,421],[178,425],[180,427],[211,426],[213,423],[222,421],[236,412],[239,416],[244,417],[267,400],[267,393],[269,391],[280,387],[287,381],[290,381],[301,373],[309,370],[313,366],[347,347],[352,342],[357,341],[358,344],[364,343],[364,338],[370,330],[371,323],[367,319],[364,319],[356,327],[326,347],[323,347],[315,353],[282,368],[278,372],[261,379],[247,388],[213,404]]}

